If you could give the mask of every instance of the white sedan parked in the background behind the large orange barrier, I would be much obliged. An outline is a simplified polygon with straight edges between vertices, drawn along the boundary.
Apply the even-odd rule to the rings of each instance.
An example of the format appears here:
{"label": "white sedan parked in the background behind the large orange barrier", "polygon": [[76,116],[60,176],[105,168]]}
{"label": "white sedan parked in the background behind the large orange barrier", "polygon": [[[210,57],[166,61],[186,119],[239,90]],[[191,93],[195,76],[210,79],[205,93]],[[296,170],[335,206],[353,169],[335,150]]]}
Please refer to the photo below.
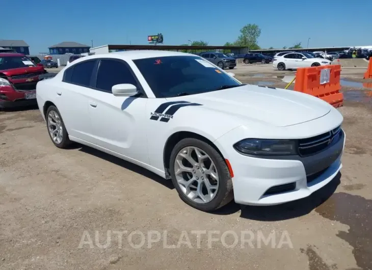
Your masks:
{"label": "white sedan parked in the background behind the large orange barrier", "polygon": [[314,58],[305,52],[291,52],[275,58],[273,67],[279,70],[297,69],[302,67],[317,67],[331,65],[331,61],[323,58]]}

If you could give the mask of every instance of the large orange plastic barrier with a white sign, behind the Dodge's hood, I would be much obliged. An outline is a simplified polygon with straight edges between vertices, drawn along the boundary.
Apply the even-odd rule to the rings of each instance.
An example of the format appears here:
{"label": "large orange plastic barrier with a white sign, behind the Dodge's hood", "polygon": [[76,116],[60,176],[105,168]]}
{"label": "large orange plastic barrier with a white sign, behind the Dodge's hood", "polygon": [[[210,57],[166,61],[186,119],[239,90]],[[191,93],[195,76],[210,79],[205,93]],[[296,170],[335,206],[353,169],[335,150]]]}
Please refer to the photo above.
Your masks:
{"label": "large orange plastic barrier with a white sign, behind the Dodge's hood", "polygon": [[[330,70],[329,82],[325,84],[321,84],[322,69]],[[298,68],[294,90],[323,99],[336,108],[340,107],[343,105],[340,74],[340,65]]]}

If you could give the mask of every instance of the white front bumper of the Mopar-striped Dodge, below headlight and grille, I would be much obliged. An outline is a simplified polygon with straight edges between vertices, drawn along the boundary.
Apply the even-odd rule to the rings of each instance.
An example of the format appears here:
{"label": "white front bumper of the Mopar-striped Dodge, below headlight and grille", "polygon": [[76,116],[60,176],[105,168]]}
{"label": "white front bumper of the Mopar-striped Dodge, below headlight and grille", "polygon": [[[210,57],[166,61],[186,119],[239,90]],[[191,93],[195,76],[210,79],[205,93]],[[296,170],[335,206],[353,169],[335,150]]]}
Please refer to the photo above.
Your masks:
{"label": "white front bumper of the Mopar-striped Dodge, below headlight and grille", "polygon": [[309,156],[257,158],[229,154],[234,199],[247,205],[276,205],[308,197],[329,183],[342,168],[345,134],[330,148]]}

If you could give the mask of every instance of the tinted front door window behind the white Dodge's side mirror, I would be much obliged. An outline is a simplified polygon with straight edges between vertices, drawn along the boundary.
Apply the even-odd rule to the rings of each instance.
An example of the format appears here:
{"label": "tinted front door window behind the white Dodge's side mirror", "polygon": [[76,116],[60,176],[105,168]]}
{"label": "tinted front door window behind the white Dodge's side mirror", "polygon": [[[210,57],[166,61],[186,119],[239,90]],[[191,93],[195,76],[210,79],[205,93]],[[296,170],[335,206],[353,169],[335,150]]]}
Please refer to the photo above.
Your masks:
{"label": "tinted front door window behind the white Dodge's side mirror", "polygon": [[97,74],[97,88],[111,92],[114,85],[131,84],[137,86],[129,67],[123,62],[101,60]]}

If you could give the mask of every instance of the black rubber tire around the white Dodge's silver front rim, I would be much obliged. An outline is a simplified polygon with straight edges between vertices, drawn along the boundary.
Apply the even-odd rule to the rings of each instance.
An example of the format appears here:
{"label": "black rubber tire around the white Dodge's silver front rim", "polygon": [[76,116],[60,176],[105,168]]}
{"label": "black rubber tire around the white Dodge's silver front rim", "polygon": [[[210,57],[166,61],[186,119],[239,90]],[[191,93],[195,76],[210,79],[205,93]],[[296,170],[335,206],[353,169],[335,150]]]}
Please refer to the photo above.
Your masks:
{"label": "black rubber tire around the white Dodge's silver front rim", "polygon": [[[214,162],[217,173],[219,176],[219,189],[217,191],[217,194],[214,199],[212,199],[208,203],[196,203],[192,200],[190,200],[180,189],[176,176],[174,173],[174,162],[176,159],[176,156],[178,152],[183,149],[184,147],[188,146],[195,146],[203,150],[206,154],[209,155],[209,157]],[[185,138],[179,141],[173,148],[171,157],[170,157],[170,174],[172,177],[172,182],[178,192],[179,197],[181,200],[188,205],[199,209],[201,211],[213,211],[216,210],[227,203],[229,203],[233,199],[233,192],[232,192],[232,180],[230,176],[229,169],[227,168],[226,162],[224,158],[221,156],[221,154],[211,145],[208,143],[194,139],[194,138]]]}

